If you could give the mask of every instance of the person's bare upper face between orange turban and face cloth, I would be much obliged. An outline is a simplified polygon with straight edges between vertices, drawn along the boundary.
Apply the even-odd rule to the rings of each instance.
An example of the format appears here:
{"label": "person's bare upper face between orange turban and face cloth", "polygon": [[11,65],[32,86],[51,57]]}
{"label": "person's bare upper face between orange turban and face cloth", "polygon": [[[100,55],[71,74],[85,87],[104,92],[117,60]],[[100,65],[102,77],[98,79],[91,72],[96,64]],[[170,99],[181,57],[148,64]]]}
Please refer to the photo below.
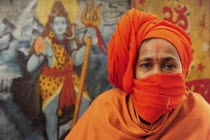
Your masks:
{"label": "person's bare upper face between orange turban and face cloth", "polygon": [[153,74],[182,73],[182,64],[176,48],[164,39],[151,39],[141,45],[135,64],[135,78]]}

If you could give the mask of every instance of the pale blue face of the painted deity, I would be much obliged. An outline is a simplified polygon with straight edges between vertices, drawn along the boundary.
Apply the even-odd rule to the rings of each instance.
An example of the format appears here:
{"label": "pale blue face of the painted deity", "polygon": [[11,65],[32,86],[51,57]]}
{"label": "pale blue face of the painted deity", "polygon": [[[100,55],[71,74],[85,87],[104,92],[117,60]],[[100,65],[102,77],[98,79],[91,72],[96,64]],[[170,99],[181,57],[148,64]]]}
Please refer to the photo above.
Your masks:
{"label": "pale blue face of the painted deity", "polygon": [[53,23],[51,23],[51,28],[57,35],[65,33],[67,26],[66,18],[61,16],[55,17]]}

